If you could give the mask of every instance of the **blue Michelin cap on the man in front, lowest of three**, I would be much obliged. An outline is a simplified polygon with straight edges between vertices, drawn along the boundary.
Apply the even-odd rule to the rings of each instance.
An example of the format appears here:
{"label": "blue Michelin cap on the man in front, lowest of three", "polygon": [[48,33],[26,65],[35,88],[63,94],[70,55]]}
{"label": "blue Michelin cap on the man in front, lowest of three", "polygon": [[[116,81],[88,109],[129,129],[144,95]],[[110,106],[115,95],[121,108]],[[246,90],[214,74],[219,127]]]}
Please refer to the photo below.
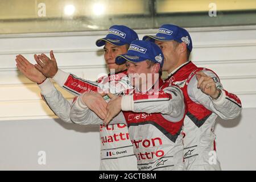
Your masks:
{"label": "blue Michelin cap on the man in front, lowest of three", "polygon": [[126,61],[131,63],[139,63],[144,60],[151,60],[154,63],[159,63],[163,67],[163,52],[159,46],[153,42],[134,40],[126,54],[118,55],[115,58],[115,63],[124,64]]}

